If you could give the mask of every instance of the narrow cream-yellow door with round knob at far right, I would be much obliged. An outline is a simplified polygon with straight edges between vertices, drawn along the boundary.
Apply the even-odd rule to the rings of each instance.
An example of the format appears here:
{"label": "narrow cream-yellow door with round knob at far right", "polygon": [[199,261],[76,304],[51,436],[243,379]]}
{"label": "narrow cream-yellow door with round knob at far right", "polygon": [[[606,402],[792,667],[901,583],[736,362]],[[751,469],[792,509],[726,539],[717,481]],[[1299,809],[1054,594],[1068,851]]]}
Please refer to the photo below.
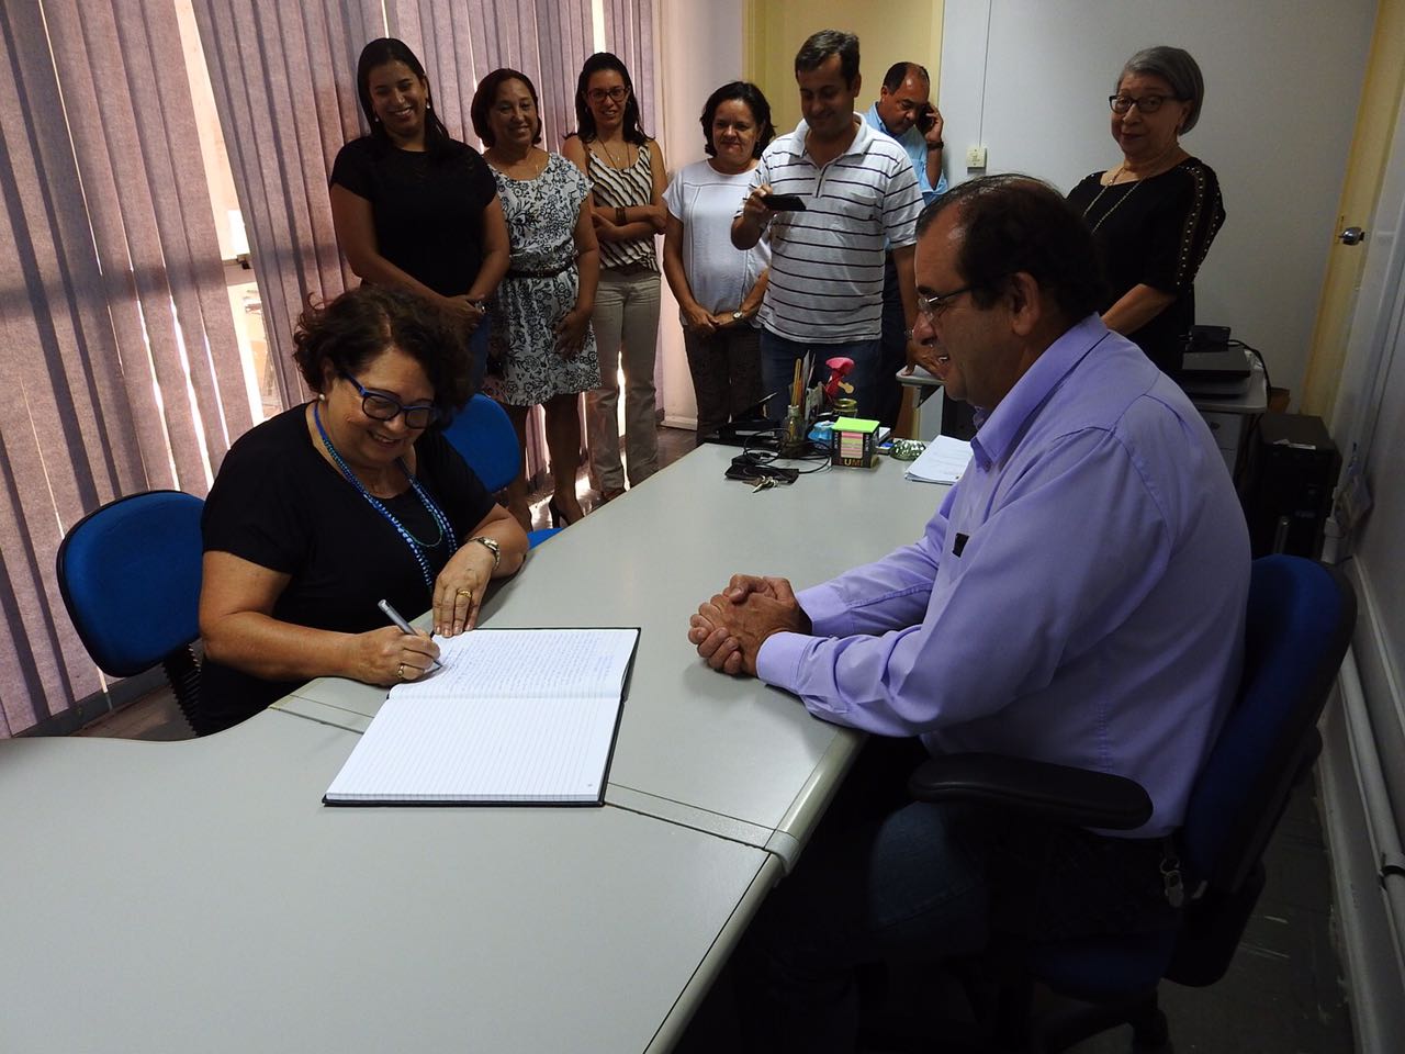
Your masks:
{"label": "narrow cream-yellow door with round knob at far right", "polygon": [[[1333,236],[1343,228],[1370,223],[1401,105],[1405,105],[1405,0],[1380,0]],[[1302,385],[1304,413],[1331,417],[1364,264],[1363,246],[1333,243]]]}

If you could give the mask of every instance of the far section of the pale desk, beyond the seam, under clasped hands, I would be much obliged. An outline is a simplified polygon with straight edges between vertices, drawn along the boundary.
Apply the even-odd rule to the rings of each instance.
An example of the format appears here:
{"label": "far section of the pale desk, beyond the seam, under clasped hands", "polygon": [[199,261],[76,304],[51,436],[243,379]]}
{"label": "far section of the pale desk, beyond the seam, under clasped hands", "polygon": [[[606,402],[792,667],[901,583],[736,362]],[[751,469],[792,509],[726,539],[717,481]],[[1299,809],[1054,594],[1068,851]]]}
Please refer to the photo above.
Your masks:
{"label": "far section of the pale desk, beyond the seam, under clasped hands", "polygon": [[[714,673],[688,616],[732,572],[797,587],[916,540],[946,490],[905,462],[835,468],[752,493],[722,472],[738,451],[702,447],[532,549],[485,606],[485,625],[642,628],[606,801],[780,853],[787,867],[861,738],[792,696]],[[315,680],[281,705],[362,728],[384,690]]]}

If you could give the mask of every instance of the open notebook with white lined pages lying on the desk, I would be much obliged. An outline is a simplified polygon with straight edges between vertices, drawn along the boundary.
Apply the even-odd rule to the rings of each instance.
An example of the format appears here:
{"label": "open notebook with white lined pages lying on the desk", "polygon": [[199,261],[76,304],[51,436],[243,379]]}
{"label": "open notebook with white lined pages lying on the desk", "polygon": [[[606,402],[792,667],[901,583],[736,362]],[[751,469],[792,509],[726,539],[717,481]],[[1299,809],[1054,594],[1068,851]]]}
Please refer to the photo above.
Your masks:
{"label": "open notebook with white lined pages lying on the desk", "polygon": [[475,630],[396,684],[327,805],[604,804],[639,631]]}

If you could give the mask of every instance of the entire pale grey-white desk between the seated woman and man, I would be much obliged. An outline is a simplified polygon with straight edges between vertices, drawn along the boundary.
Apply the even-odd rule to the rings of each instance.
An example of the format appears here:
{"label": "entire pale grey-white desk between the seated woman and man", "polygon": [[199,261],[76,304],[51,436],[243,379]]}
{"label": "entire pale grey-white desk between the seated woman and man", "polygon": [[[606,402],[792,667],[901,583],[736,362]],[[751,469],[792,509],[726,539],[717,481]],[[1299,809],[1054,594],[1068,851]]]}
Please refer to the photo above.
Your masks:
{"label": "entire pale grey-white desk between the seated woman and man", "polygon": [[[733,571],[909,541],[903,464],[791,488],[705,447],[535,549],[492,625],[639,625],[603,809],[326,808],[384,691],[319,680],[207,739],[0,741],[0,1051],[666,1051],[860,738],[708,670]],[[306,720],[312,718],[312,720]],[[319,724],[325,722],[325,724]]]}

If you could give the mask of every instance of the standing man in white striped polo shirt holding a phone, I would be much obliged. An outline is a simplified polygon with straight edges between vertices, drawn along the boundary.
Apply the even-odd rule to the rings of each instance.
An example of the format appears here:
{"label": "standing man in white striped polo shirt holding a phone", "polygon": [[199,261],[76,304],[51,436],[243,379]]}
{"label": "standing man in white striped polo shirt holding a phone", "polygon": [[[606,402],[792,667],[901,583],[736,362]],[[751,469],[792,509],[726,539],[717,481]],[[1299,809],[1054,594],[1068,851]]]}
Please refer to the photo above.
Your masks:
{"label": "standing man in white striped polo shirt holding a phone", "polygon": [[[884,246],[892,247],[910,334],[916,313],[912,254],[922,194],[908,153],[854,112],[861,79],[858,38],[822,30],[795,55],[804,119],[762,155],[752,190],[732,221],[732,243],[771,242],[771,280],[762,301],[762,379],[785,392],[795,363],[815,351],[854,360],[860,416],[878,412],[882,363]],[[769,194],[794,194],[804,211],[773,209]],[[788,399],[771,399],[780,419]]]}

